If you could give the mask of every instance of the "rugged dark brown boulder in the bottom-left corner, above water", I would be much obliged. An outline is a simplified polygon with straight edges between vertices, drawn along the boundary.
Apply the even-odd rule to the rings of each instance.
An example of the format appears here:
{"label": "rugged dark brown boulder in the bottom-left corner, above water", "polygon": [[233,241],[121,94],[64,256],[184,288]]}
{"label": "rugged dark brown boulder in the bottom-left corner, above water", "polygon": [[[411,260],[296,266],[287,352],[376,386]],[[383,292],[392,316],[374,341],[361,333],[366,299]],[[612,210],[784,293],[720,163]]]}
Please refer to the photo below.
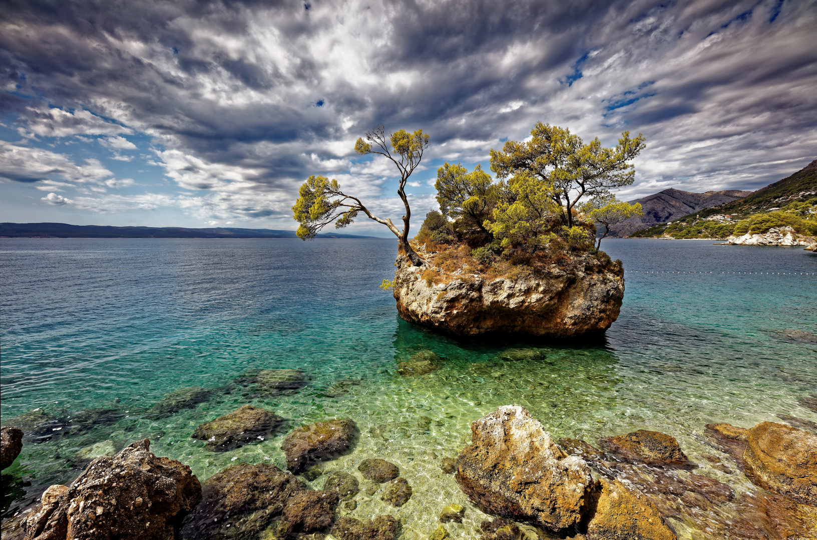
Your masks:
{"label": "rugged dark brown boulder in the bottom-left corner, above water", "polygon": [[140,440],[96,458],[70,487],[47,489],[26,522],[28,538],[172,540],[201,493],[190,467],[157,458]]}

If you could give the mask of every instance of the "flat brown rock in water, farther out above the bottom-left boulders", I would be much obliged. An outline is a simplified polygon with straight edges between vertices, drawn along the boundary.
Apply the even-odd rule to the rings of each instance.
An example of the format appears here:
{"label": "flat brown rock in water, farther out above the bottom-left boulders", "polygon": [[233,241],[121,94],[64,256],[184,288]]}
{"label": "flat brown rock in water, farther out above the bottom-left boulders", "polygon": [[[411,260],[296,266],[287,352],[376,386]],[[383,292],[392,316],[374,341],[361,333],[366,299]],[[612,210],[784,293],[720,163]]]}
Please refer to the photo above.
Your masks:
{"label": "flat brown rock in water, farther out above the bottom-left boulders", "polygon": [[231,413],[205,422],[193,432],[194,439],[206,440],[204,448],[224,452],[256,440],[264,440],[283,418],[266,409],[242,405]]}

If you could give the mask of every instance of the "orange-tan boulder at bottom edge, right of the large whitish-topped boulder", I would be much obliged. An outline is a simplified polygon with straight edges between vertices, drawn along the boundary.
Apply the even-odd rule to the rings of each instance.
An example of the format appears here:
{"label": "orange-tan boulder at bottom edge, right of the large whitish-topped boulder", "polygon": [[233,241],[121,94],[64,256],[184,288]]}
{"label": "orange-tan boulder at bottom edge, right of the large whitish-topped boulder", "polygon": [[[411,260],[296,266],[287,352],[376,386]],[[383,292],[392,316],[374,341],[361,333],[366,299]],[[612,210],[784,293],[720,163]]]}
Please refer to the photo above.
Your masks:
{"label": "orange-tan boulder at bottom edge, right of the large whitish-topped boulder", "polygon": [[592,497],[587,540],[676,540],[645,494],[618,480],[602,479],[600,484]]}

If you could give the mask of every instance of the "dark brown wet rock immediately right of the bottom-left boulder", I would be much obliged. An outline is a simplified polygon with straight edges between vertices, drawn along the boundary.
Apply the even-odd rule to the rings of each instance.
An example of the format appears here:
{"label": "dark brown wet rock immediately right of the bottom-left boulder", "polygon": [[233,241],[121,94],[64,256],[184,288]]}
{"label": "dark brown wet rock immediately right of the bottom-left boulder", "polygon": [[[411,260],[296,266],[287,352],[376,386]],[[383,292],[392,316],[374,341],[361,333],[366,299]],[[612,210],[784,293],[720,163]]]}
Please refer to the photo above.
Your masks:
{"label": "dark brown wet rock immediately right of the bottom-left boulder", "polygon": [[306,484],[275,465],[227,467],[204,481],[202,502],[185,520],[181,538],[254,538],[280,519],[292,494]]}

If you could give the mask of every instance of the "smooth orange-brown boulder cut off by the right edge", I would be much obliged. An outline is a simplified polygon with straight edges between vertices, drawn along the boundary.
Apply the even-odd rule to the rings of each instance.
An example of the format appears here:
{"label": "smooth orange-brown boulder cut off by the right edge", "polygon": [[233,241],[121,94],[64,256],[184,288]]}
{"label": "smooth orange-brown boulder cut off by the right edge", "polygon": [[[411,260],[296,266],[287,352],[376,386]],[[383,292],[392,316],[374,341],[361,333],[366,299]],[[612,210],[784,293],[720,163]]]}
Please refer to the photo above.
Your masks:
{"label": "smooth orange-brown boulder cut off by the right edge", "polygon": [[785,424],[759,423],[748,431],[743,463],[746,476],[761,488],[815,505],[817,436]]}

